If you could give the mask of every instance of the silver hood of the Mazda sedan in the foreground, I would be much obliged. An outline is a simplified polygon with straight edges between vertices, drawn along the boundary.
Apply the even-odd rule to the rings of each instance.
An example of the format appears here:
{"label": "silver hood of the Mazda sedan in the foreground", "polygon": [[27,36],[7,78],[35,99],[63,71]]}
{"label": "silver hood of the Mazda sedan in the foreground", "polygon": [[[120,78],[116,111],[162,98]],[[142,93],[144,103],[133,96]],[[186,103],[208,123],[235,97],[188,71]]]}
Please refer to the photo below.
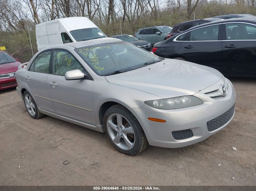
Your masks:
{"label": "silver hood of the Mazda sedan in the foreground", "polygon": [[223,75],[214,68],[176,59],[164,59],[143,68],[105,76],[109,83],[161,98],[193,95],[222,77]]}

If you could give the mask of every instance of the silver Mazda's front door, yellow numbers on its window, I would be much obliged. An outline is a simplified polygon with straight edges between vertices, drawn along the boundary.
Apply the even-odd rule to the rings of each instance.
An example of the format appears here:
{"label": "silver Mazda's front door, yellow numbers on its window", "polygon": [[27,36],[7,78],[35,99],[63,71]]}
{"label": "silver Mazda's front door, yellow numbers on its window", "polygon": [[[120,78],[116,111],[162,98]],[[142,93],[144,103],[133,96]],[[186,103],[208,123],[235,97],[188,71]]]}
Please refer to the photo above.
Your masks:
{"label": "silver Mazda's front door, yellow numbers on its window", "polygon": [[65,80],[65,73],[75,69],[85,71],[71,53],[54,50],[48,84],[55,113],[96,125],[91,95],[93,80]]}

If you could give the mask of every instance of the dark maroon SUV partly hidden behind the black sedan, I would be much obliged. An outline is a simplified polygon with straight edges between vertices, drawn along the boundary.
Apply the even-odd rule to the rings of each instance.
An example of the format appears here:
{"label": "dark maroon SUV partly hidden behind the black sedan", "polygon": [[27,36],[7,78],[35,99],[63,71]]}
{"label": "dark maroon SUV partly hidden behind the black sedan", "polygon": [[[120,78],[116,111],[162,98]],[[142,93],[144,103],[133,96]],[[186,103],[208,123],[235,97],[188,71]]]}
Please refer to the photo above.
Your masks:
{"label": "dark maroon SUV partly hidden behind the black sedan", "polygon": [[219,21],[221,18],[207,18],[207,19],[197,19],[197,20],[192,20],[192,21],[185,21],[179,24],[176,24],[172,27],[171,32],[167,35],[167,38],[178,34],[182,31],[188,30],[191,27],[198,26],[200,24],[205,24],[213,21]]}

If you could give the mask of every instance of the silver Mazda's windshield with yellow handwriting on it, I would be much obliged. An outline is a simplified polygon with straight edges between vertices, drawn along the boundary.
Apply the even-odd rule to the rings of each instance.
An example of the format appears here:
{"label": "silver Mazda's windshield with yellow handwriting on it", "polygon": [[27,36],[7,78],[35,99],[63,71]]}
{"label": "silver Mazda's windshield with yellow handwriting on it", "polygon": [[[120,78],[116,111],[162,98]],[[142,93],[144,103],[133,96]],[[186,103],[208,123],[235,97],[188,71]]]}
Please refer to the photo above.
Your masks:
{"label": "silver Mazda's windshield with yellow handwriting on it", "polygon": [[127,72],[163,60],[127,42],[112,42],[75,49],[98,75]]}

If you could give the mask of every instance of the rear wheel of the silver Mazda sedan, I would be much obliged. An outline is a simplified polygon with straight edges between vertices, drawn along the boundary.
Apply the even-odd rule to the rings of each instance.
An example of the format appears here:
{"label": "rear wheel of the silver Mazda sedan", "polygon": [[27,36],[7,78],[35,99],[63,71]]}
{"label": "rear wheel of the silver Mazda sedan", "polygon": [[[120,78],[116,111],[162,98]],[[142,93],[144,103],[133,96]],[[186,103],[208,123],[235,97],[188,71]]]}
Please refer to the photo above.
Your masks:
{"label": "rear wheel of the silver Mazda sedan", "polygon": [[27,90],[23,94],[23,99],[24,99],[26,110],[32,118],[39,119],[45,116],[45,114],[41,113],[38,110],[38,107],[35,103],[34,98],[31,96],[31,94]]}

